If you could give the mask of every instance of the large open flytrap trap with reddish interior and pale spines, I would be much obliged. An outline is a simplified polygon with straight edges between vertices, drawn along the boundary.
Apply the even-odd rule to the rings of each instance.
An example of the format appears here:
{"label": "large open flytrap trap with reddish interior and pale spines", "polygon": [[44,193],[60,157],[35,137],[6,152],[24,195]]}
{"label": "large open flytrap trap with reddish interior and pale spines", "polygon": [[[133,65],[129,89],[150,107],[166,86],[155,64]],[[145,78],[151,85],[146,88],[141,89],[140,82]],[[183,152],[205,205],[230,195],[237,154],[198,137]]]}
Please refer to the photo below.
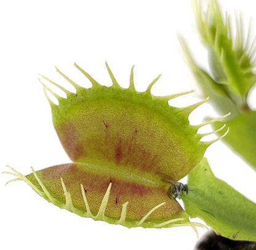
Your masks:
{"label": "large open flytrap trap with reddish interior and pale spines", "polygon": [[[172,184],[163,181],[159,173],[178,181],[193,170],[207,147],[228,133],[223,126],[220,138],[201,141],[209,133],[199,134],[198,129],[226,115],[190,125],[188,115],[207,99],[188,107],[172,107],[169,100],[191,92],[153,96],[151,87],[159,76],[145,92],[137,92],[134,67],[129,88],[122,88],[108,64],[113,85],[105,87],[77,64],[74,66],[90,80],[91,88],[80,87],[59,69],[57,72],[76,88],[76,93],[47,77],[40,80],[55,130],[73,163],[32,170],[27,176],[12,167],[6,173],[14,175],[14,180],[25,181],[47,201],[82,217],[126,227],[203,227],[190,222],[168,192]],[[65,92],[66,98],[53,92],[44,80]]]}

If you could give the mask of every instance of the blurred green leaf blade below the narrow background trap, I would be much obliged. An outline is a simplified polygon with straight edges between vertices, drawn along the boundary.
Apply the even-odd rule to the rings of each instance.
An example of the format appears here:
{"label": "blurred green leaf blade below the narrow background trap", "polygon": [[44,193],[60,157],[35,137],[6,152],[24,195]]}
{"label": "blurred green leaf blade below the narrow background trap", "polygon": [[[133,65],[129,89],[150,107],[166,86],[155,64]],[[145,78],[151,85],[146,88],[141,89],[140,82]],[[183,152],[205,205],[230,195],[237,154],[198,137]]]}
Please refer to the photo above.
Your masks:
{"label": "blurred green leaf blade below the narrow background trap", "polygon": [[[256,111],[247,111],[225,124],[230,128],[228,135],[223,138],[228,146],[238,153],[256,170]],[[215,129],[223,126],[223,122],[214,123]]]}

